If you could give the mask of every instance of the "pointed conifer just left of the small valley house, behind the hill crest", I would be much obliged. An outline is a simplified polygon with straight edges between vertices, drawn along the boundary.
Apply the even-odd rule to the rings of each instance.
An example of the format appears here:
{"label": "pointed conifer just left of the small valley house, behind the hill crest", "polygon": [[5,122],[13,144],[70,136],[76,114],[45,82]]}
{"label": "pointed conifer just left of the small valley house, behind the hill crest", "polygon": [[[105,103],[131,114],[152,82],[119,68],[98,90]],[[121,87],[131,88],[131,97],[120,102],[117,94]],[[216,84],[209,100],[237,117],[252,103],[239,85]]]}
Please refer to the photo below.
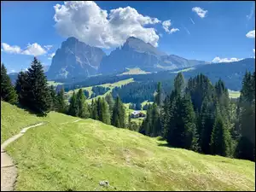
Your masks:
{"label": "pointed conifer just left of the small valley house, behind the hill crest", "polygon": [[125,128],[125,107],[119,96],[116,97],[113,105],[111,125]]}

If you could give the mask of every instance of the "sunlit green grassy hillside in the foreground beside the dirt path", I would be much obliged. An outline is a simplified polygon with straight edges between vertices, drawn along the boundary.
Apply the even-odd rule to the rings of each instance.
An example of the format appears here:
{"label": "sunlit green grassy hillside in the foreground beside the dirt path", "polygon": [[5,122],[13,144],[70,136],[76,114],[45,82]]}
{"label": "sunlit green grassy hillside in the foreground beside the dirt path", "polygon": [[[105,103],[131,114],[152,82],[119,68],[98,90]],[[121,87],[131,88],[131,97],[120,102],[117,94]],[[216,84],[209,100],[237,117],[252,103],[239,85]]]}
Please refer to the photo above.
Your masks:
{"label": "sunlit green grassy hillside in the foreground beside the dirt path", "polygon": [[[2,116],[11,108],[6,105]],[[1,129],[11,129],[7,121],[15,119],[2,119]],[[47,125],[7,148],[18,166],[16,190],[255,190],[251,161],[168,148],[93,119],[73,122],[77,118],[60,113],[45,119]],[[100,187],[102,180],[110,187]]]}

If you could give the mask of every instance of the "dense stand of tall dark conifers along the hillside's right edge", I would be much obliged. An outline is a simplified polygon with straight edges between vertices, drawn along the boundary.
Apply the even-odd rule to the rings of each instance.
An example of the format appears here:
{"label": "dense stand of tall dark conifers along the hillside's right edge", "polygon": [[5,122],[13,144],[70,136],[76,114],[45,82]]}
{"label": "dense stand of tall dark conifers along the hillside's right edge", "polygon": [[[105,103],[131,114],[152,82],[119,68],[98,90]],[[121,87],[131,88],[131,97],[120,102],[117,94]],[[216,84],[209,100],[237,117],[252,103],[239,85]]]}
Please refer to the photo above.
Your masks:
{"label": "dense stand of tall dark conifers along the hillside's right edge", "polygon": [[245,74],[237,102],[221,79],[212,85],[203,74],[185,82],[178,73],[171,94],[163,101],[160,94],[159,86],[139,132],[175,148],[255,161],[255,72]]}

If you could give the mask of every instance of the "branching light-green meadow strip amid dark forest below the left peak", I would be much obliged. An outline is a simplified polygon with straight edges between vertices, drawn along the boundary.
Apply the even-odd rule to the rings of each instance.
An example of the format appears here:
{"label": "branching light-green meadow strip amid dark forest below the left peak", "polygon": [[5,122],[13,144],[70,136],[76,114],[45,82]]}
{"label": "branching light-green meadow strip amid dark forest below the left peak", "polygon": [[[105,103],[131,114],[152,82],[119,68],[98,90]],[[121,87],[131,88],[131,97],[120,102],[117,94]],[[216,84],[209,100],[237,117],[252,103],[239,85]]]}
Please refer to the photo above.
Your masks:
{"label": "branching light-green meadow strip amid dark forest below the left peak", "polygon": [[[108,90],[104,95],[102,96],[107,96],[108,93],[110,93],[113,88],[115,87],[120,87],[121,85],[125,85],[125,84],[130,84],[131,82],[133,82],[134,80],[131,78],[131,79],[125,79],[125,80],[121,80],[121,81],[118,81],[118,82],[115,82],[113,84],[99,84],[99,85],[95,85],[95,86],[102,86],[102,87],[109,87],[110,90]],[[93,86],[90,86],[90,87],[83,87],[82,90],[87,90],[89,92],[89,96],[91,96],[92,94],[92,87]],[[75,92],[78,92],[79,89],[76,89]],[[73,94],[73,90],[69,90],[67,92],[67,96],[72,96]],[[98,96],[94,97],[94,98],[97,98]],[[91,102],[91,99],[87,100],[88,102]]]}

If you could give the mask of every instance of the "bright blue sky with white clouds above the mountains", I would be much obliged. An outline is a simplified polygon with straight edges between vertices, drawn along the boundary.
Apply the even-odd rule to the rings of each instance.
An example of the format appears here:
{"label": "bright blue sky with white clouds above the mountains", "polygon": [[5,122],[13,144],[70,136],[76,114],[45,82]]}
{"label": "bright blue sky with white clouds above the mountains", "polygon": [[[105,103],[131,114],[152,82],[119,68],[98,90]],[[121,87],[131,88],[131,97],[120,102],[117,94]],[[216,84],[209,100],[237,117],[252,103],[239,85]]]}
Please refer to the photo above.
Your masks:
{"label": "bright blue sky with white clouds above the mountains", "polygon": [[50,65],[68,37],[107,55],[130,36],[170,55],[201,61],[255,57],[255,2],[3,2],[1,62],[26,70]]}

